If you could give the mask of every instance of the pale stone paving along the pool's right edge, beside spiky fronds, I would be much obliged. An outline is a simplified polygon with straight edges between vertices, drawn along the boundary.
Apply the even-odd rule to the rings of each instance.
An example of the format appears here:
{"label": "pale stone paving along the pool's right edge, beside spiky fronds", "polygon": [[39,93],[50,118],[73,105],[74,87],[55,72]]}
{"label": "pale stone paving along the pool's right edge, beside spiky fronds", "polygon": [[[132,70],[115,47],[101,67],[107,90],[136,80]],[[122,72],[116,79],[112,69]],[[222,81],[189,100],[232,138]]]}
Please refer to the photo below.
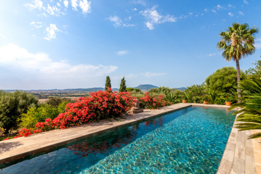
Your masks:
{"label": "pale stone paving along the pool's right edge, beside spiky fronds", "polygon": [[[238,115],[240,114],[237,114],[236,118]],[[250,130],[238,131],[235,124],[241,122],[236,121],[236,118],[216,173],[261,173],[261,170],[257,170],[255,167],[257,158],[254,156],[252,139],[248,139],[251,132]],[[261,161],[261,146],[258,145],[260,149],[259,161]]]}

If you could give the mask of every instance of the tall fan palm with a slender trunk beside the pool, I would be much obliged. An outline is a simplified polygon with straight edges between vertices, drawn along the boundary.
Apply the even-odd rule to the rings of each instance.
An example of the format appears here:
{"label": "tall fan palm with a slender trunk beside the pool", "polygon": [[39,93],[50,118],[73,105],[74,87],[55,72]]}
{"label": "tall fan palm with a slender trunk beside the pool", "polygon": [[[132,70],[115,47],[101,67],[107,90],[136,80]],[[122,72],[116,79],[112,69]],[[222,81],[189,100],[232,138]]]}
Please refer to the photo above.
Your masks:
{"label": "tall fan palm with a slender trunk beside the pool", "polygon": [[[222,50],[223,57],[228,60],[234,60],[236,62],[237,71],[237,86],[240,81],[240,66],[239,60],[242,56],[251,55],[255,51],[254,47],[254,35],[258,33],[257,27],[249,27],[248,24],[233,23],[232,27],[228,27],[226,31],[220,33],[222,38],[217,43],[217,48]],[[241,98],[241,89],[237,89],[238,98]],[[241,101],[238,101],[241,102]]]}

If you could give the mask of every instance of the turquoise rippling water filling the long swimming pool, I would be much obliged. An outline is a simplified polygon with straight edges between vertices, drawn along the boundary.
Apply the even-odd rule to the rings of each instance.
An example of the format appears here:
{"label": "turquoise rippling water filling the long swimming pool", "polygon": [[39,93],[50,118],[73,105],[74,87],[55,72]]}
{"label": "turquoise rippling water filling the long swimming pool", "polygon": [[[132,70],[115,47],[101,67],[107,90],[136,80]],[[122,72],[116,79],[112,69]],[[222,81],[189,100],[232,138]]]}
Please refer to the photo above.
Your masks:
{"label": "turquoise rippling water filling the long swimming pool", "polygon": [[215,173],[235,116],[188,107],[0,166],[1,173]]}

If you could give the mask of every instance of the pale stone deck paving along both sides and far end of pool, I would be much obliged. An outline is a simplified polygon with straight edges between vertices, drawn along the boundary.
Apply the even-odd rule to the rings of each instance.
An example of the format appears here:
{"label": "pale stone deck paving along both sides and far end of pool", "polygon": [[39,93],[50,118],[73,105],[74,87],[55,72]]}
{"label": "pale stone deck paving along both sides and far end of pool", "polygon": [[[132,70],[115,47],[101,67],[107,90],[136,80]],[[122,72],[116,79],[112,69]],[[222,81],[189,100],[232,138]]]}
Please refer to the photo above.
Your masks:
{"label": "pale stone deck paving along both sides and far end of pool", "polygon": [[[99,123],[92,122],[67,129],[56,129],[28,137],[0,141],[0,164],[190,106],[229,107],[213,104],[178,103],[162,107],[159,110],[146,109],[143,113],[124,116],[126,119],[120,119],[120,121],[101,120]],[[235,121],[234,124],[236,123]],[[238,132],[233,126],[217,173],[261,173],[261,138],[250,140],[247,139],[249,135],[251,135],[250,130]]]}

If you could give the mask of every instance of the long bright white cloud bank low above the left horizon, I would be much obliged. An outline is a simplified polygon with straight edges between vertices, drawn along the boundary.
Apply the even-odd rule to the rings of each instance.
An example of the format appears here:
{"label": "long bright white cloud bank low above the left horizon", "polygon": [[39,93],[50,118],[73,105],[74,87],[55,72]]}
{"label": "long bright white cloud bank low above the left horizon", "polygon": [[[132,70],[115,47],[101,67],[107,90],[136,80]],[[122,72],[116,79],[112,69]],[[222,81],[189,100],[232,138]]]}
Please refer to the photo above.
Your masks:
{"label": "long bright white cloud bank low above the left horizon", "polygon": [[[53,61],[46,53],[29,53],[14,44],[0,47],[0,66],[16,72],[30,72],[48,78],[83,78],[102,76],[115,71],[116,66],[94,66],[92,64],[72,65],[67,61]],[[34,72],[34,73],[32,73]],[[58,80],[58,79],[57,79]]]}

